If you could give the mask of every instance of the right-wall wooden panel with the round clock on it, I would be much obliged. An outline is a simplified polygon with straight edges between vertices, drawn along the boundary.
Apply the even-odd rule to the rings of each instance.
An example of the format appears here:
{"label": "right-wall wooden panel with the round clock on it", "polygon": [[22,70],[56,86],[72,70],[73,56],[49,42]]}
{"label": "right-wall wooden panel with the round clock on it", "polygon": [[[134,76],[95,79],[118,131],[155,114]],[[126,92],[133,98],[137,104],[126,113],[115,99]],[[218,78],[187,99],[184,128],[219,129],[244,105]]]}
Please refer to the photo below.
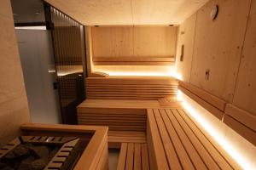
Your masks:
{"label": "right-wall wooden panel with the round clock on it", "polygon": [[[221,99],[232,101],[250,0],[212,0],[197,12],[190,82]],[[210,19],[212,7],[219,14]],[[209,80],[206,71],[210,70]]]}

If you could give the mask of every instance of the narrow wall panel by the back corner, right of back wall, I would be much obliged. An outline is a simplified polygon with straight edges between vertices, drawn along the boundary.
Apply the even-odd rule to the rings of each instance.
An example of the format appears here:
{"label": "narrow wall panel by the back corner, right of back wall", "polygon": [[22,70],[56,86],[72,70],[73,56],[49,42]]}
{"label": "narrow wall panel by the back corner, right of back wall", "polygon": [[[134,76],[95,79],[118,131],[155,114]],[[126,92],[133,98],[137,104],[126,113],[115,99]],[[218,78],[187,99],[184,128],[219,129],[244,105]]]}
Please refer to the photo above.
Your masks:
{"label": "narrow wall panel by the back corner, right of back wall", "polygon": [[[176,71],[185,82],[189,82],[191,63],[193,56],[194,38],[195,38],[196,14],[185,20],[178,27],[177,32],[177,53],[176,53]],[[181,48],[183,45],[183,61],[180,61]]]}

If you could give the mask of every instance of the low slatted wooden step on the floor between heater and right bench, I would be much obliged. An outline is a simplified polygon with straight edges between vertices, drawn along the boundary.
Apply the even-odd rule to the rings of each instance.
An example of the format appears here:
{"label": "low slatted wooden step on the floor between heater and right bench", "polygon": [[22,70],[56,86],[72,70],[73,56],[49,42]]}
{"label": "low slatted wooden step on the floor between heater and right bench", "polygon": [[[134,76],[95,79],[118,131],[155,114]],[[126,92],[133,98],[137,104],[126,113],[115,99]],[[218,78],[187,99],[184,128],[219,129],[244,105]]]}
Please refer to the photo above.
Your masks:
{"label": "low slatted wooden step on the floor between heater and right bench", "polygon": [[118,170],[148,170],[148,146],[147,144],[122,143]]}

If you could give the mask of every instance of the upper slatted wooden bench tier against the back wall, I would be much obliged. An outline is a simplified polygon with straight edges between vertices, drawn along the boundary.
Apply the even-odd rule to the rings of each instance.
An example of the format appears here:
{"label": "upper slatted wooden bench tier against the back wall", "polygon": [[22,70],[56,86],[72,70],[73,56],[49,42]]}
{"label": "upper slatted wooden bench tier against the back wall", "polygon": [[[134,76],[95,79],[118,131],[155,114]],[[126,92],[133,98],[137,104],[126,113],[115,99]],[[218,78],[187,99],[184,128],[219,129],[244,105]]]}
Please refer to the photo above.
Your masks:
{"label": "upper slatted wooden bench tier against the back wall", "polygon": [[177,94],[172,77],[87,77],[87,99],[160,99]]}

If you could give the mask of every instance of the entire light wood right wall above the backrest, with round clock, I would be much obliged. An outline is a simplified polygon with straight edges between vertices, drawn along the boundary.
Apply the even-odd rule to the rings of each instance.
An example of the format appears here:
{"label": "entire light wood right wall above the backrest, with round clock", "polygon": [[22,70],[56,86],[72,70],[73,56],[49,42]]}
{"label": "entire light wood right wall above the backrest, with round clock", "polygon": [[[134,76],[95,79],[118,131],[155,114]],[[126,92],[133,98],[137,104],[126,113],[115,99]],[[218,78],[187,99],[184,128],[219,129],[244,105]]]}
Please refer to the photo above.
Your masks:
{"label": "entire light wood right wall above the backrest, with round clock", "polygon": [[[176,65],[183,81],[253,115],[256,115],[255,3],[256,0],[211,0],[200,8],[179,26]],[[219,6],[219,14],[212,21],[210,13],[215,4]],[[184,58],[180,61],[182,44]]]}

